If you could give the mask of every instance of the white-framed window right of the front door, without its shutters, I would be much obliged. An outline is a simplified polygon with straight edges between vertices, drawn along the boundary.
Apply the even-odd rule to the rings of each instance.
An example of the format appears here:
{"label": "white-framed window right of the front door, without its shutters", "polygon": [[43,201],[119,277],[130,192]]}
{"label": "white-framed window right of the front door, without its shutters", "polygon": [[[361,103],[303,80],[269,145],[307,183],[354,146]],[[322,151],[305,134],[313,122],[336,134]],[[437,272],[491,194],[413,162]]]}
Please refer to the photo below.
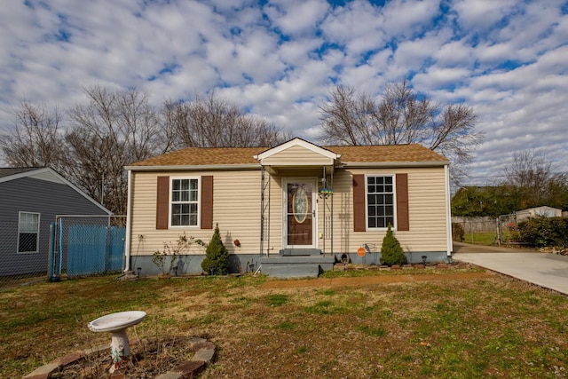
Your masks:
{"label": "white-framed window right of the front door, without its shutters", "polygon": [[392,176],[367,176],[367,227],[386,228],[394,223],[394,180]]}

